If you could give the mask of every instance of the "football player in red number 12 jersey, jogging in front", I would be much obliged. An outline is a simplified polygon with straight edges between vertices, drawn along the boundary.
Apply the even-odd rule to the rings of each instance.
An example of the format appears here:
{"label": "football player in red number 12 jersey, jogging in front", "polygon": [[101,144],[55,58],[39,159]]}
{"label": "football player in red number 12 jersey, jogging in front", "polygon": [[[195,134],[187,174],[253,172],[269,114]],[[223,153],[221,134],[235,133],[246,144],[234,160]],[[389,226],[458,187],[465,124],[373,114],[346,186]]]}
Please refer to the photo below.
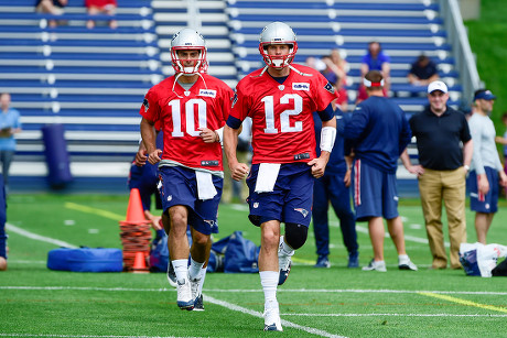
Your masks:
{"label": "football player in red number 12 jersey, jogging in front", "polygon": [[[259,51],[266,63],[242,78],[224,128],[224,149],[234,179],[247,173],[249,219],[261,229],[260,281],[265,291],[265,330],[281,331],[277,285],[285,282],[291,255],[306,241],[313,177],[321,177],[336,137],[331,84],[317,70],[293,65],[295,34],[282,22],[268,24]],[[320,157],[315,154],[313,111],[323,121]],[[252,119],[252,166],[239,163],[239,127]],[[280,223],[284,222],[284,236]]]}

